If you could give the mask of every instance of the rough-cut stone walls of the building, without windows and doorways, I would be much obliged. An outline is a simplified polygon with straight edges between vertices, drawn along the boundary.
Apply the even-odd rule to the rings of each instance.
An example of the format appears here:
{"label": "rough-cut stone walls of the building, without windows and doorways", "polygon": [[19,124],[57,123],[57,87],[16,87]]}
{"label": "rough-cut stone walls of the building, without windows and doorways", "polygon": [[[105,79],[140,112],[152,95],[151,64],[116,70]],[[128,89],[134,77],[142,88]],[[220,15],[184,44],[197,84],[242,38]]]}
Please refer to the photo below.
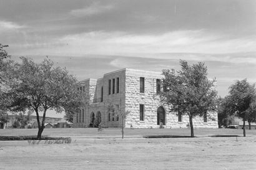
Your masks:
{"label": "rough-cut stone walls of the building, without windows and doorways", "polygon": [[[117,77],[119,77],[119,93],[117,93]],[[145,80],[145,92],[140,93],[140,77]],[[115,93],[113,93],[113,78],[115,78]],[[160,103],[157,94],[157,79],[161,79],[159,72],[147,72],[142,70],[122,69],[116,72],[106,73],[103,78],[87,79],[81,82],[85,87],[85,94],[89,95],[89,106],[84,105],[84,122],[76,122],[74,116],[74,127],[88,127],[91,122],[91,114],[95,118],[98,112],[101,113],[101,124],[107,127],[121,126],[121,118],[116,120],[116,115],[111,114],[109,121],[109,103],[119,105],[122,111],[130,111],[127,115],[125,125],[134,128],[159,128],[157,125],[157,108],[162,106],[165,110],[165,128],[187,128],[189,126],[189,117],[182,116],[182,121],[178,121],[175,113],[170,113],[168,106]],[[109,80],[111,80],[111,94],[109,95]],[[101,87],[103,86],[103,102],[101,102]],[[140,121],[139,105],[144,105],[144,121]],[[112,120],[114,116],[114,120]],[[195,128],[218,128],[217,113],[209,113],[207,122],[204,118],[197,116],[193,119]]]}

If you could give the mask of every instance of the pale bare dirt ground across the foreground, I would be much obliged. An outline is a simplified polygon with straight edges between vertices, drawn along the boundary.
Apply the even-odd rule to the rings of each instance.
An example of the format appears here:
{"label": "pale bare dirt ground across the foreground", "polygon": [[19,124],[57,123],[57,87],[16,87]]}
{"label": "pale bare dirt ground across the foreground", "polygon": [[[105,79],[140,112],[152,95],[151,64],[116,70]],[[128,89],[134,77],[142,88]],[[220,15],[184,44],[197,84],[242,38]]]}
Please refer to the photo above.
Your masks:
{"label": "pale bare dirt ground across the foreground", "polygon": [[256,139],[1,146],[0,169],[255,169]]}

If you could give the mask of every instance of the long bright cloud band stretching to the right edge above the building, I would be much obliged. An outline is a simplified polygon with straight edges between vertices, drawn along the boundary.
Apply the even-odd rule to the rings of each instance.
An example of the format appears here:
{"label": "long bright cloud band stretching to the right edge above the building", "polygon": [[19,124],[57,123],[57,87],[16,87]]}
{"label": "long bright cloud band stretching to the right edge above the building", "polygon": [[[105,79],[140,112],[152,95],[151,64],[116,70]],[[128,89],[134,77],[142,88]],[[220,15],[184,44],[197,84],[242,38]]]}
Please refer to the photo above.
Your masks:
{"label": "long bright cloud band stretching to the right edge above the building", "polygon": [[[254,52],[256,47],[254,37],[228,39],[225,38],[225,35],[209,34],[205,30],[174,31],[154,35],[126,34],[125,32],[86,32],[66,35],[59,41],[69,44],[68,50],[61,50],[66,55],[126,55],[162,59],[227,60],[229,62],[230,60],[242,62],[243,59],[238,57],[234,59],[228,54]],[[256,63],[255,53],[247,57],[252,59],[251,62]]]}

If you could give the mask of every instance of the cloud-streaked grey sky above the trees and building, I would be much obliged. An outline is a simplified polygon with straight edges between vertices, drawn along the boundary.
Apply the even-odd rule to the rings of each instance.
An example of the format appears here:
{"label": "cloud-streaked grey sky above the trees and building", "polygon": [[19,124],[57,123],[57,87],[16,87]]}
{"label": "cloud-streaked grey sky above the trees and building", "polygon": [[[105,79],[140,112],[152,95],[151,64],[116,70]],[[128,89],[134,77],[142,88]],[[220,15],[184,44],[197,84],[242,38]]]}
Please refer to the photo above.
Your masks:
{"label": "cloud-streaked grey sky above the trees and building", "polygon": [[256,1],[0,0],[0,43],[78,80],[202,61],[224,97],[234,80],[256,82]]}

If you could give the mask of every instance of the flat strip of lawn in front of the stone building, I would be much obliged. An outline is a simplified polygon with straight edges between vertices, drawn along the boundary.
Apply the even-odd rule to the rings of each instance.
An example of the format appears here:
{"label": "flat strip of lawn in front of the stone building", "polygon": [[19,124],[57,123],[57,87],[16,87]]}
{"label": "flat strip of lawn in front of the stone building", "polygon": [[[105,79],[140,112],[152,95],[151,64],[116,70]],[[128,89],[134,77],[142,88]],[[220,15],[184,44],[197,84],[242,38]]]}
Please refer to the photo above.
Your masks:
{"label": "flat strip of lawn in front of the stone building", "polygon": [[[126,128],[125,136],[144,136],[144,135],[190,135],[190,129],[133,129]],[[256,135],[256,130],[246,130],[247,135]],[[241,135],[242,130],[233,129],[212,129],[195,128],[197,135]],[[5,129],[0,130],[0,136],[32,136],[37,135],[37,129]],[[97,128],[52,128],[45,129],[43,136],[121,136],[120,128],[105,128],[98,132]]]}

